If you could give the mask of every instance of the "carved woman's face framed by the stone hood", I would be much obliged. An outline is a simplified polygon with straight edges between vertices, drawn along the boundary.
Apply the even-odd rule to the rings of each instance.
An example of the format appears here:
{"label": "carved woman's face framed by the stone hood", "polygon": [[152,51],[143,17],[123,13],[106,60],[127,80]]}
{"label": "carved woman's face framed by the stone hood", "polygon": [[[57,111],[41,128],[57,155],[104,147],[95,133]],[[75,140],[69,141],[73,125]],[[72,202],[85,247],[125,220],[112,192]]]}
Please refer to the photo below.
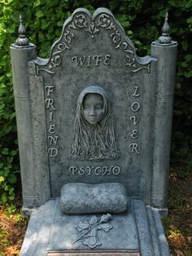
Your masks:
{"label": "carved woman's face framed by the stone hood", "polygon": [[89,93],[83,100],[83,117],[91,125],[96,125],[103,119],[103,97]]}

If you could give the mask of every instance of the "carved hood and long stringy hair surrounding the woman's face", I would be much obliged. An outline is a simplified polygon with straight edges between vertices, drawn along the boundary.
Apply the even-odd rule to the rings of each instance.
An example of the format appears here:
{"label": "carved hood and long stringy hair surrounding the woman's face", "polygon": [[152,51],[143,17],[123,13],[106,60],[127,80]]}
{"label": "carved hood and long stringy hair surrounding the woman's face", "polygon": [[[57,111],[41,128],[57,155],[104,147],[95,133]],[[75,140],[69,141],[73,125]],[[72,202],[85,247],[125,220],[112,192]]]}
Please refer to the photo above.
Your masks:
{"label": "carved hood and long stringy hair surrounding the woman's face", "polygon": [[[103,98],[103,118],[96,125],[83,117],[85,95],[97,94]],[[100,86],[88,86],[77,99],[70,157],[80,160],[116,159],[120,157],[111,116],[111,104],[106,90]]]}

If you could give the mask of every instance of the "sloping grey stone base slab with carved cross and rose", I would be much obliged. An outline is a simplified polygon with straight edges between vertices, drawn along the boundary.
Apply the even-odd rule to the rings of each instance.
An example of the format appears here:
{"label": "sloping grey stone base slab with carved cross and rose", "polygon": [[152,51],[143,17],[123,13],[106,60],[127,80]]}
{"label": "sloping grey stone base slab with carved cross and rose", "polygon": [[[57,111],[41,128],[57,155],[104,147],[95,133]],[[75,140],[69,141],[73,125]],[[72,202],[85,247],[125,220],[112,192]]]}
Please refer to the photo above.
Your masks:
{"label": "sloping grey stone base slab with carved cross and rose", "polygon": [[63,214],[60,198],[34,209],[20,256],[169,256],[159,211],[137,199],[124,214]]}

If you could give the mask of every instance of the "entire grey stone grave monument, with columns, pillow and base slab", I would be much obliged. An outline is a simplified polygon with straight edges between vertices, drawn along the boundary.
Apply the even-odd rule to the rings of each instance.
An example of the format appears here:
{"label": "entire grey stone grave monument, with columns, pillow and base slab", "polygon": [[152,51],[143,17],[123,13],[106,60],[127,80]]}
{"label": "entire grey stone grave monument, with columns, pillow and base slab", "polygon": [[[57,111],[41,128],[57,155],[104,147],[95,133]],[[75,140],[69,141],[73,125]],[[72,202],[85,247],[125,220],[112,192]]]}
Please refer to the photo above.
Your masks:
{"label": "entire grey stone grave monument, with columns, pillow and base slab", "polygon": [[11,45],[23,210],[20,255],[170,255],[167,210],[177,42],[151,56],[105,8],[80,8],[49,59],[25,37]]}

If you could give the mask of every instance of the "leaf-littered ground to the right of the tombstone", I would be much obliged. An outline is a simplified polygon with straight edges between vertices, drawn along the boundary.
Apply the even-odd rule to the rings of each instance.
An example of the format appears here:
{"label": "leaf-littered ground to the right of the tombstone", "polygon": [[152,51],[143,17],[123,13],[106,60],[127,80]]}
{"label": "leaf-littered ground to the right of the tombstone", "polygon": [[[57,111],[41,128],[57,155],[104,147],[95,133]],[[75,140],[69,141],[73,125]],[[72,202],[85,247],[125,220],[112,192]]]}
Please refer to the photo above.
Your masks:
{"label": "leaf-littered ground to the right of the tombstone", "polygon": [[192,256],[191,167],[172,167],[169,178],[168,217],[163,219],[163,223],[172,255]]}

